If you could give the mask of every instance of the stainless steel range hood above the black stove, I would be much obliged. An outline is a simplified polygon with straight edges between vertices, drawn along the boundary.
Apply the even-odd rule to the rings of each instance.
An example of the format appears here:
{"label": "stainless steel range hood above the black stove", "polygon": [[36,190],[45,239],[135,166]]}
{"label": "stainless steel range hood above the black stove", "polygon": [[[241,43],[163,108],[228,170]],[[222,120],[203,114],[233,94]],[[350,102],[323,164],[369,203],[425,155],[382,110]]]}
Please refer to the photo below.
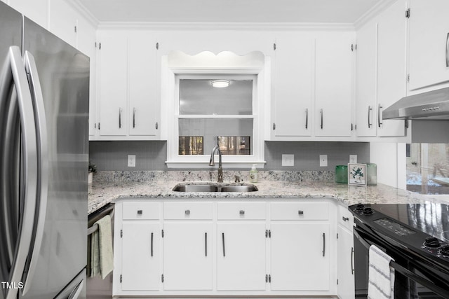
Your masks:
{"label": "stainless steel range hood above the black stove", "polygon": [[449,88],[403,97],[385,109],[382,118],[449,120]]}

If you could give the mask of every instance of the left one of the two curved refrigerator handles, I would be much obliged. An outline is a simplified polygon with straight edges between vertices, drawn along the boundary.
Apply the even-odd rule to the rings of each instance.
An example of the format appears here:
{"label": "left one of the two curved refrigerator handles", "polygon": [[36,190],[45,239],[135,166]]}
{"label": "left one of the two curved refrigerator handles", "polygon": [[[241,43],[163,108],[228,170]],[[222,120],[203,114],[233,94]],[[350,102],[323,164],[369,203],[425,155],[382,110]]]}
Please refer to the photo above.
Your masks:
{"label": "left one of the two curved refrigerator handles", "polygon": [[[9,276],[10,282],[18,284],[22,281],[22,274],[32,244],[37,192],[37,148],[31,92],[29,90],[20,48],[18,46],[11,46],[8,51],[8,56],[18,97],[20,125],[22,129],[22,177],[23,181],[26,182],[24,184],[25,188],[20,195],[21,201],[23,202],[22,219],[20,221],[18,246],[15,251],[15,259],[11,265]],[[6,293],[6,299],[16,298],[17,293],[17,288],[9,288],[8,293]]]}

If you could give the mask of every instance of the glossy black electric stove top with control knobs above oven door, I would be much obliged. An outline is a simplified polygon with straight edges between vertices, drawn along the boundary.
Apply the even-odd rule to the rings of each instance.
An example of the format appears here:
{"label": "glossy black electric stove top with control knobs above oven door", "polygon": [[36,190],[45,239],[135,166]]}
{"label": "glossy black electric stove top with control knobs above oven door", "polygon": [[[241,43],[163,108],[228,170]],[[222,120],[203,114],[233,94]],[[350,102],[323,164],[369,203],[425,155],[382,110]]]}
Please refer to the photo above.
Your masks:
{"label": "glossy black electric stove top with control knobs above oven door", "polygon": [[449,298],[447,204],[354,204],[349,210],[354,242],[384,249],[394,258],[396,272],[441,296],[429,298]]}

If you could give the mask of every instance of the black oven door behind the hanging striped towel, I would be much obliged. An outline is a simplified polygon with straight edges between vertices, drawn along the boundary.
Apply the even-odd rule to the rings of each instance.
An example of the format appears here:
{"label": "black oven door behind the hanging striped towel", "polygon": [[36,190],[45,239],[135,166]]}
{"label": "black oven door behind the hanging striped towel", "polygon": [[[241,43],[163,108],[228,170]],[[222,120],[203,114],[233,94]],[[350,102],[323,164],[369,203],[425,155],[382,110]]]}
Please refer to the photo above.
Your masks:
{"label": "black oven door behind the hanging striped towel", "polygon": [[357,224],[354,227],[356,298],[368,297],[368,249],[373,244],[395,260],[390,263],[395,270],[395,298],[448,298],[449,277],[409,256],[391,241],[389,237],[364,228],[364,225]]}

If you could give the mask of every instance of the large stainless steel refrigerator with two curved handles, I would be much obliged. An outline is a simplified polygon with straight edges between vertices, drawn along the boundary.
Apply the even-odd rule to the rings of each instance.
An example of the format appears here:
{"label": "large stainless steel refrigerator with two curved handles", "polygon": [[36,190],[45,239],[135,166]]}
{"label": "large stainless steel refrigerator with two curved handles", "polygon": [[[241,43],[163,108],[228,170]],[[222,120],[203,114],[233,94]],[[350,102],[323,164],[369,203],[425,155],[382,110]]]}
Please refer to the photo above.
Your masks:
{"label": "large stainless steel refrigerator with two curved handles", "polygon": [[86,298],[89,58],[0,1],[0,299]]}

